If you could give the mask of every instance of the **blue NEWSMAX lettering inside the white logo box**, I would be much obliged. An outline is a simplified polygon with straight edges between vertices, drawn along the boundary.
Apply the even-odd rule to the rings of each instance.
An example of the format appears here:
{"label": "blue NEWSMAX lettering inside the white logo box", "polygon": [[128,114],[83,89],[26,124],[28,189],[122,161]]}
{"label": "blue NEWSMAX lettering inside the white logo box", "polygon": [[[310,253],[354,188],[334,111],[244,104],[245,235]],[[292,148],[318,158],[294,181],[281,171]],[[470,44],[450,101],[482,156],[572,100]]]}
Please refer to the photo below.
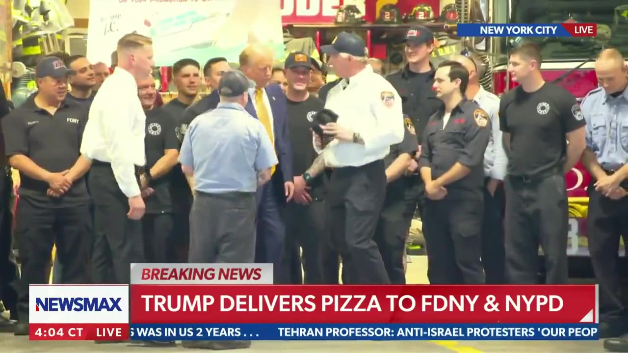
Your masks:
{"label": "blue NEWSMAX lettering inside the white logo box", "polygon": [[35,311],[43,312],[121,312],[121,297],[88,298],[88,297],[53,297],[35,298]]}

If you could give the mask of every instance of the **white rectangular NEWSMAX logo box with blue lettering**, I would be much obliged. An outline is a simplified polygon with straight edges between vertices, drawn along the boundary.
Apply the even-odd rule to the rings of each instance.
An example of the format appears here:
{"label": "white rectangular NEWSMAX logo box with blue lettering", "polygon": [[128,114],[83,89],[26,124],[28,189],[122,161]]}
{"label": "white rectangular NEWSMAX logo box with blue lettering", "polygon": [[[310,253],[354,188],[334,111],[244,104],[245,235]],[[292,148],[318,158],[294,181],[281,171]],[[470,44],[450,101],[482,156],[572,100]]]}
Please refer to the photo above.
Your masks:
{"label": "white rectangular NEWSMAX logo box with blue lettering", "polygon": [[31,323],[129,323],[127,285],[31,285]]}

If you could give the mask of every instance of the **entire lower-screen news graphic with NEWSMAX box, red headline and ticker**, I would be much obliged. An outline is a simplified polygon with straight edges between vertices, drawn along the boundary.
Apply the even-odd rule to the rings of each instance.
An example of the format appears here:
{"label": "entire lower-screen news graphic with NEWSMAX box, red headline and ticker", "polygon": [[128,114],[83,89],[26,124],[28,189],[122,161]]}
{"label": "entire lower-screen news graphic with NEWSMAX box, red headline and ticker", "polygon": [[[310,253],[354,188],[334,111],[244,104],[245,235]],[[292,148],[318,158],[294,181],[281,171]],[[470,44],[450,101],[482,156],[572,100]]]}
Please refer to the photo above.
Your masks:
{"label": "entire lower-screen news graphic with NEWSMAX box, red headline and ticker", "polygon": [[131,274],[128,287],[31,286],[31,339],[598,339],[595,285],[273,286],[271,264]]}

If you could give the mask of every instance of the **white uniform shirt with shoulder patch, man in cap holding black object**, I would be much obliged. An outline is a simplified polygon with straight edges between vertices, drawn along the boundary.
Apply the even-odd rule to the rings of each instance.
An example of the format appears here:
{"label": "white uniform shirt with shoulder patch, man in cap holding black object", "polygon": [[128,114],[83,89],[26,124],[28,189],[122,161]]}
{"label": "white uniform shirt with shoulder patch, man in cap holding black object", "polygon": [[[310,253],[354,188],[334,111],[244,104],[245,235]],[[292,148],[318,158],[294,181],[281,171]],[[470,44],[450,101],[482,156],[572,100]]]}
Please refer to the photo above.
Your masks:
{"label": "white uniform shirt with shoulder patch, man in cap holding black object", "polygon": [[403,141],[401,97],[393,85],[373,72],[371,65],[350,77],[342,89],[345,84],[342,80],[336,86],[340,88],[327,95],[325,108],[338,114],[338,125],[360,134],[364,144],[334,139],[322,151],[325,164],[362,166],[381,160],[390,153],[391,144]]}

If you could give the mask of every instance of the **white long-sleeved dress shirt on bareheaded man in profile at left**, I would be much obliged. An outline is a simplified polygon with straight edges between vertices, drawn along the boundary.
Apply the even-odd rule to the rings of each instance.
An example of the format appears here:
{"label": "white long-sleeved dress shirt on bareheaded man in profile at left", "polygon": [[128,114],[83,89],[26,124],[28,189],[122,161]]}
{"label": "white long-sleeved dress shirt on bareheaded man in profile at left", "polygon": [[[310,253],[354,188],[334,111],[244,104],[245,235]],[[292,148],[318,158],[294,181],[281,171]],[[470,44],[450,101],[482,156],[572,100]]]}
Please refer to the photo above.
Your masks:
{"label": "white long-sleeved dress shirt on bareheaded man in profile at left", "polygon": [[126,197],[140,194],[135,166],[146,165],[145,130],[146,114],[136,80],[117,67],[94,97],[80,152],[92,160],[111,163]]}

